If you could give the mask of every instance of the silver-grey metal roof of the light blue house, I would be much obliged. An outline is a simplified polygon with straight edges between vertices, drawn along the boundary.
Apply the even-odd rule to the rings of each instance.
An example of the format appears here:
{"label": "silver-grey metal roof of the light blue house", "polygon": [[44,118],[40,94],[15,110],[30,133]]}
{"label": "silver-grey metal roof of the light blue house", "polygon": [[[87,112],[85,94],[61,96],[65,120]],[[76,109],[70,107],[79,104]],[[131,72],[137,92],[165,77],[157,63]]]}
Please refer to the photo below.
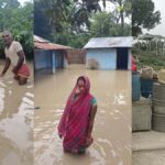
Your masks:
{"label": "silver-grey metal roof of the light blue house", "polygon": [[132,47],[132,36],[92,37],[84,48]]}

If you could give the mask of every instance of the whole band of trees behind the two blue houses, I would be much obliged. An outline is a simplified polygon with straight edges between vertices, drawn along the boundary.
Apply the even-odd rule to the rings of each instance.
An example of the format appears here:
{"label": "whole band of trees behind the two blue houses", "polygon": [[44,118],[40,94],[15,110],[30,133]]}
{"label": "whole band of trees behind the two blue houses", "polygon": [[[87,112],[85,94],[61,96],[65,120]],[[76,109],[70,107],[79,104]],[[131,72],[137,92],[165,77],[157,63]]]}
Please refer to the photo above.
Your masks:
{"label": "whole band of trees behind the two blue houses", "polygon": [[[101,11],[100,1],[102,0],[35,0],[34,31],[40,33],[42,37],[50,38],[58,44],[72,47],[82,47],[90,37],[131,35],[131,26],[124,22],[119,23],[120,12],[116,13]],[[102,1],[103,2],[103,1]],[[124,0],[123,19],[130,15],[130,0]],[[117,3],[119,3],[117,1]],[[105,3],[106,4],[106,3]],[[40,15],[43,13],[44,15]],[[43,20],[47,20],[45,24],[40,25]],[[50,33],[46,33],[51,26]],[[35,30],[36,29],[36,30]]]}

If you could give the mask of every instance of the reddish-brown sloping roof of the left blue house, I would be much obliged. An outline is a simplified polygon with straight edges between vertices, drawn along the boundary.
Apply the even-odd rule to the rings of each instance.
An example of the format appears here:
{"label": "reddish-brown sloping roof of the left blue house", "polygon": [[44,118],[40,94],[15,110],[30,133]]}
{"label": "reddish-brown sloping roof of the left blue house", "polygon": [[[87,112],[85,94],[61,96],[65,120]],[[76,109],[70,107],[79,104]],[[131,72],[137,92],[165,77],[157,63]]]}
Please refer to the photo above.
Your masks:
{"label": "reddish-brown sloping roof of the left blue house", "polygon": [[69,46],[64,46],[64,45],[59,45],[59,44],[54,44],[51,43],[47,40],[44,40],[40,36],[34,35],[34,47],[35,48],[40,48],[40,50],[69,50]]}

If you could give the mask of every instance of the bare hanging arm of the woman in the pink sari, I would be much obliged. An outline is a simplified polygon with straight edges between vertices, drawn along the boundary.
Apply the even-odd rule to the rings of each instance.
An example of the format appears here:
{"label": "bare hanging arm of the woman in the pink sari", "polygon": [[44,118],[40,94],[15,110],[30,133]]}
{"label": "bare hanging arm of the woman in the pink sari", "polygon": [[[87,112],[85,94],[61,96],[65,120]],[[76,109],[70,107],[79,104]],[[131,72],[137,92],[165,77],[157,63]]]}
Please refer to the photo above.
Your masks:
{"label": "bare hanging arm of the woman in the pink sari", "polygon": [[89,125],[88,125],[87,138],[91,138],[91,132],[94,128],[94,121],[95,121],[97,109],[98,109],[97,105],[91,107],[90,114],[89,114]]}

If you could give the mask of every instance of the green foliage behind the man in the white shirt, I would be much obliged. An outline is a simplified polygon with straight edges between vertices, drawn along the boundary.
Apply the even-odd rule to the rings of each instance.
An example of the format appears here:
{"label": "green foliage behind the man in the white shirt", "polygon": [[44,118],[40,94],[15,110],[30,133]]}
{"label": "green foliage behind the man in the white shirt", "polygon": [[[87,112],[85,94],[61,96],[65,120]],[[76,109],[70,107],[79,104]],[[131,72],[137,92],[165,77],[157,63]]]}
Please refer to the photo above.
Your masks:
{"label": "green foliage behind the man in the white shirt", "polygon": [[[0,32],[9,30],[14,40],[21,42],[28,57],[33,57],[33,3],[23,7],[18,0],[0,1]],[[4,45],[0,38],[0,57],[4,57]]]}

